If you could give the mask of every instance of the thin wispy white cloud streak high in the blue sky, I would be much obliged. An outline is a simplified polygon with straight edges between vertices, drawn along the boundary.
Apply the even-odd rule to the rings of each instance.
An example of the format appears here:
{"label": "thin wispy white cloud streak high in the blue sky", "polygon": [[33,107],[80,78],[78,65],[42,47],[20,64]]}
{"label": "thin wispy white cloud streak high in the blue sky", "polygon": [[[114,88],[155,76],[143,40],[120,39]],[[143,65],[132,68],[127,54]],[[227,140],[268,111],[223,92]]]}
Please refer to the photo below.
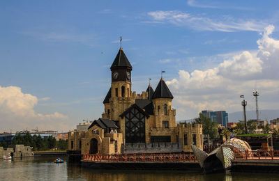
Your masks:
{"label": "thin wispy white cloud streak high in the blue sky", "polygon": [[211,19],[209,17],[196,16],[190,13],[183,13],[179,10],[157,10],[147,13],[151,21],[145,23],[154,24],[174,24],[176,26],[186,26],[198,31],[262,31],[266,22],[255,20],[234,20],[231,17],[223,19]]}

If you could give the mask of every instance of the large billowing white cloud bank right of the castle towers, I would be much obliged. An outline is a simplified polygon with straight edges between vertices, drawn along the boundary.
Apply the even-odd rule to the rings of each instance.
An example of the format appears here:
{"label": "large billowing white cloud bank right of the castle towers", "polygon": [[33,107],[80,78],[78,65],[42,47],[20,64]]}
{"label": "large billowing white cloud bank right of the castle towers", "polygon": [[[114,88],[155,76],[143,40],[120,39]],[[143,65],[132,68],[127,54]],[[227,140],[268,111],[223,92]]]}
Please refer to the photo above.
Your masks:
{"label": "large billowing white cloud bank right of the castle towers", "polygon": [[[179,118],[193,118],[203,109],[241,111],[241,94],[248,97],[250,109],[255,109],[252,105],[255,88],[263,97],[260,109],[278,108],[279,40],[270,37],[273,30],[272,25],[266,27],[257,41],[257,51],[229,54],[231,58],[207,70],[179,70],[178,78],[167,81],[175,95],[174,105],[179,107]],[[274,100],[268,102],[264,97],[274,97]]]}

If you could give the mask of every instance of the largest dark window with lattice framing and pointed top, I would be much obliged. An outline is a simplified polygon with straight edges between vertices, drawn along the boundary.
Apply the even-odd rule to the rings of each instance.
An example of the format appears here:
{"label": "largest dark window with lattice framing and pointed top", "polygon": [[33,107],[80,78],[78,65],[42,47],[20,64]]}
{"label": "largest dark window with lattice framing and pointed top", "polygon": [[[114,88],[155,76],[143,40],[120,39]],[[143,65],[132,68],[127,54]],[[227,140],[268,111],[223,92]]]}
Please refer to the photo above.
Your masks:
{"label": "largest dark window with lattice framing and pointed top", "polygon": [[126,143],[145,143],[145,116],[133,108],[125,116]]}

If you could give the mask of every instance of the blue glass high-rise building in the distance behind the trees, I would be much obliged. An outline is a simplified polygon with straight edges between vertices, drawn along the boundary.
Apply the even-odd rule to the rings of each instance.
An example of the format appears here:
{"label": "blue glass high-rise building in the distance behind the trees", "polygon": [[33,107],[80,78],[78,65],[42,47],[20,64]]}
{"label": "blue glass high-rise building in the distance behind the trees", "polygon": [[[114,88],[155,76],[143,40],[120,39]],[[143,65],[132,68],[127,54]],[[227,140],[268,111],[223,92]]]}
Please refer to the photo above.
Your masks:
{"label": "blue glass high-rise building in the distance behind the trees", "polygon": [[202,111],[204,116],[211,119],[211,121],[216,121],[218,124],[222,125],[223,127],[227,127],[227,123],[229,122],[228,113],[226,111],[211,111],[211,110],[204,110]]}

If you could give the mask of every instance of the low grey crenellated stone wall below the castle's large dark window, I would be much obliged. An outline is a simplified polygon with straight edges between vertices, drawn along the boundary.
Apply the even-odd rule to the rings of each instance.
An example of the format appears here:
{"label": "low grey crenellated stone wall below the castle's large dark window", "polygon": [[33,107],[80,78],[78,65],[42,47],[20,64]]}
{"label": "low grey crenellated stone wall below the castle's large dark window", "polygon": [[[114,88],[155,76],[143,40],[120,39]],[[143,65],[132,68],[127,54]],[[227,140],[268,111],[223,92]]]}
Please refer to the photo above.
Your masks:
{"label": "low grey crenellated stone wall below the castle's large dark window", "polygon": [[126,143],[122,148],[123,153],[163,153],[183,150],[179,143]]}

